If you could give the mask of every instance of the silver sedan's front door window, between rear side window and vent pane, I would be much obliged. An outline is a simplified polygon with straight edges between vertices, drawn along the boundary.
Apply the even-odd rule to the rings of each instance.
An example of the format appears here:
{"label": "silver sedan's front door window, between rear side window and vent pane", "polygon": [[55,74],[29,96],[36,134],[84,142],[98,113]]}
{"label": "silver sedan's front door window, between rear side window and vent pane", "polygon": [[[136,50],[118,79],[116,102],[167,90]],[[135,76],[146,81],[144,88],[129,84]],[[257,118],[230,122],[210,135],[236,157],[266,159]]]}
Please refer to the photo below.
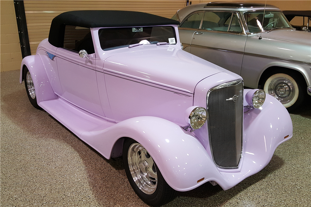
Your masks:
{"label": "silver sedan's front door window, between rear side window and vent pane", "polygon": [[206,11],[201,29],[228,31],[232,12]]}

